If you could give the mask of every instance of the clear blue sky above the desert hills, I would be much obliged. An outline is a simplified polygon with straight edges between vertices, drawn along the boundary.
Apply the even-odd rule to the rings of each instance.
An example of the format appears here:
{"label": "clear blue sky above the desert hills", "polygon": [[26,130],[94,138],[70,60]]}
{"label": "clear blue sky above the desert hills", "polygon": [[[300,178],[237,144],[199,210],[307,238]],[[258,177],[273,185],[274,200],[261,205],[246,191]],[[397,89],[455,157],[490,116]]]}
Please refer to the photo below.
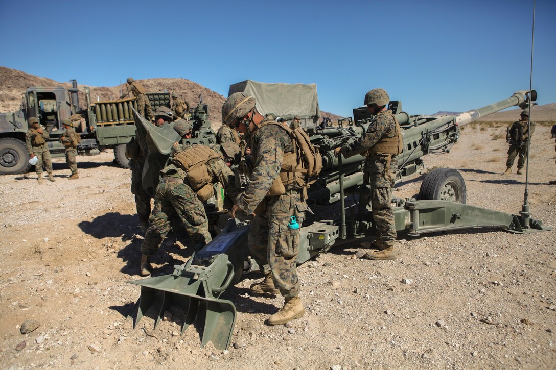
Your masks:
{"label": "clear blue sky above the desert hills", "polygon": [[[0,0],[0,65],[92,86],[183,77],[316,83],[351,116],[385,88],[410,114],[466,111],[529,88],[532,0]],[[556,1],[537,0],[533,88],[556,102]]]}

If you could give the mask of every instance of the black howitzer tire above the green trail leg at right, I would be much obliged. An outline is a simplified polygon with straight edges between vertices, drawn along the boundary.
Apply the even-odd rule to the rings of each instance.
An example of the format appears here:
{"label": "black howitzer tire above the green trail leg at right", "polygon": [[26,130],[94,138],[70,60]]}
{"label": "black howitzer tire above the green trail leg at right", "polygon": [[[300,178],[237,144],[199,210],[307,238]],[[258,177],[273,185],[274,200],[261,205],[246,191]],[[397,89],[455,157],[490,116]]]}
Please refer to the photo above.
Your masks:
{"label": "black howitzer tire above the green trail leg at right", "polygon": [[461,174],[451,168],[435,168],[426,174],[419,199],[452,201],[465,204],[467,194]]}

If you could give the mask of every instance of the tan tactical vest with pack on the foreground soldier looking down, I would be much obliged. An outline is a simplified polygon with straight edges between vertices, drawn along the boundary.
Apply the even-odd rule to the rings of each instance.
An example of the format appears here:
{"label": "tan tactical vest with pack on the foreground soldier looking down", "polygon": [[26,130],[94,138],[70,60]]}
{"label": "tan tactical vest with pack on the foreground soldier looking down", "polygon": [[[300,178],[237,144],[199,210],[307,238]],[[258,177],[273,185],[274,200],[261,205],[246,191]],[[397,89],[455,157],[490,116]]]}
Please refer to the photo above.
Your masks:
{"label": "tan tactical vest with pack on the foreground soldier looking down", "polygon": [[300,128],[291,129],[283,123],[272,119],[265,119],[257,127],[274,124],[288,134],[294,151],[284,153],[279,176],[274,179],[272,186],[266,196],[282,195],[286,193],[286,187],[302,189],[304,197],[307,196],[307,188],[316,181],[316,177],[322,169],[322,157],[320,152],[312,146],[305,131]]}

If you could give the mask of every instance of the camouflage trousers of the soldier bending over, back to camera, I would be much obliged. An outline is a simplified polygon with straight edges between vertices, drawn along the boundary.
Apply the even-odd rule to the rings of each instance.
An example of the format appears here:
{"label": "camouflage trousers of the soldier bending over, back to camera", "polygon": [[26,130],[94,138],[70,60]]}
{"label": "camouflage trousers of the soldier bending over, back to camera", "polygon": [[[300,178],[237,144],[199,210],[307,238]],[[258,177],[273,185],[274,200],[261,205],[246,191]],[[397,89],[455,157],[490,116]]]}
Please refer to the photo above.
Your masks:
{"label": "camouflage trousers of the soldier bending over, back to camera", "polygon": [[150,226],[141,245],[141,253],[155,254],[171,229],[171,219],[179,218],[181,225],[195,243],[195,249],[206,246],[212,237],[205,208],[191,187],[184,183],[161,180],[156,188],[155,207]]}

